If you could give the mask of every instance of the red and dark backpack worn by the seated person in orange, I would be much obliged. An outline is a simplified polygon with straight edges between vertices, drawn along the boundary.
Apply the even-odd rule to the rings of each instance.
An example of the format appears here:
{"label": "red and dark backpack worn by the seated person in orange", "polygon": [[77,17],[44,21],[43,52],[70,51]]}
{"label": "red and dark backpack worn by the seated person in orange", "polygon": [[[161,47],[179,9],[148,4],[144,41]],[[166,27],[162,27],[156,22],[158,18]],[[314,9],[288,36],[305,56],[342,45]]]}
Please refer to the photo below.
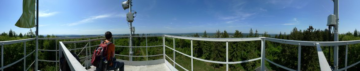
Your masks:
{"label": "red and dark backpack worn by the seated person in orange", "polygon": [[93,57],[91,59],[91,64],[98,69],[106,70],[107,65],[107,46],[112,44],[112,42],[104,44],[104,41],[101,41],[101,44],[94,50]]}

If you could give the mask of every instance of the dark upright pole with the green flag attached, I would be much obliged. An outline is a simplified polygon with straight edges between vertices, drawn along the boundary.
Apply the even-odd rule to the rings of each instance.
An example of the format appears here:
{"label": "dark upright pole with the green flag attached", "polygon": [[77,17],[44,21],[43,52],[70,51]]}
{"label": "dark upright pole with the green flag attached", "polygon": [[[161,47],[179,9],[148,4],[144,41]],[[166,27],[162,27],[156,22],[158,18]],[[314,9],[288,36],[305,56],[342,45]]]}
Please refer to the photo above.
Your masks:
{"label": "dark upright pole with the green flag attached", "polygon": [[39,0],[36,0],[36,55],[35,55],[35,71],[38,71],[38,49],[39,49]]}

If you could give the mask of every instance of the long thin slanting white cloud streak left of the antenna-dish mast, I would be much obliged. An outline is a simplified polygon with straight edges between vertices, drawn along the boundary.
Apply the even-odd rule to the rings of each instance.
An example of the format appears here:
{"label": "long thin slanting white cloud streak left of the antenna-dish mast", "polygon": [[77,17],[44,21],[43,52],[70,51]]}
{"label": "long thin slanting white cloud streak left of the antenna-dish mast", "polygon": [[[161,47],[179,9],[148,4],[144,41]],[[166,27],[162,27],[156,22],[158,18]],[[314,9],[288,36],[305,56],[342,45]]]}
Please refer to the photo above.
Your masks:
{"label": "long thin slanting white cloud streak left of the antenna-dish mast", "polygon": [[82,19],[81,21],[78,21],[78,22],[75,22],[75,23],[69,23],[67,25],[68,26],[81,25],[81,24],[85,24],[85,23],[94,22],[95,19],[106,18],[106,17],[110,17],[110,15],[105,14],[105,15],[91,16],[91,17],[87,17],[85,19]]}

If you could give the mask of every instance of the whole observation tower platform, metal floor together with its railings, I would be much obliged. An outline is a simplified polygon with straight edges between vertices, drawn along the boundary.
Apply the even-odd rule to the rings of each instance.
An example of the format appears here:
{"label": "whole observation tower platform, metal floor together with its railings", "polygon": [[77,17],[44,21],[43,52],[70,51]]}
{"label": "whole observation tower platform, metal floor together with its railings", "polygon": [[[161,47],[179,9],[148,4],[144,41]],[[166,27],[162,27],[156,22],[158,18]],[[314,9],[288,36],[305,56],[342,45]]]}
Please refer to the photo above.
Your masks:
{"label": "whole observation tower platform, metal floor together with its railings", "polygon": [[[296,40],[283,40],[283,39],[274,39],[274,38],[269,38],[269,37],[251,37],[251,38],[203,38],[203,37],[183,37],[183,36],[172,36],[172,35],[148,35],[148,36],[113,36],[113,40],[116,38],[129,38],[129,37],[143,37],[146,40],[146,46],[119,46],[119,45],[115,45],[115,49],[119,49],[119,48],[146,48],[146,55],[144,56],[131,56],[130,52],[129,55],[121,55],[121,54],[115,54],[116,56],[123,56],[123,57],[143,57],[146,58],[145,61],[131,61],[131,59],[128,60],[122,60],[122,59],[117,59],[117,61],[122,61],[125,63],[125,71],[178,71],[178,69],[181,70],[185,70],[185,71],[194,71],[194,60],[197,61],[203,61],[203,62],[209,62],[209,63],[219,63],[219,64],[224,64],[226,65],[225,69],[226,71],[229,70],[229,64],[239,64],[239,63],[245,63],[245,62],[251,62],[251,61],[261,61],[261,71],[265,70],[265,62],[269,62],[275,66],[284,68],[285,70],[289,70],[289,71],[300,71],[301,69],[301,61],[306,61],[306,60],[301,60],[301,47],[302,46],[314,46],[314,48],[317,49],[317,53],[318,53],[318,58],[319,58],[319,65],[320,65],[320,69],[321,71],[342,71],[342,70],[346,70],[347,68],[350,68],[352,66],[355,66],[357,64],[360,63],[356,62],[354,64],[351,65],[347,65],[345,64],[345,67],[343,68],[339,68],[338,70],[332,70],[330,68],[330,65],[328,64],[327,59],[324,56],[323,50],[321,49],[321,46],[340,46],[340,45],[346,45],[346,56],[345,56],[345,63],[347,63],[347,51],[348,51],[348,45],[351,44],[358,44],[360,43],[360,40],[354,40],[354,41],[296,41]],[[157,37],[157,38],[162,38],[161,40],[159,40],[162,44],[161,45],[153,45],[153,46],[148,46],[148,37]],[[81,39],[80,41],[64,41],[64,40],[68,40],[68,39]],[[196,41],[215,41],[215,42],[224,42],[226,43],[226,53],[224,53],[226,55],[226,61],[221,62],[221,61],[211,61],[211,60],[206,60],[206,59],[201,59],[201,58],[197,58],[193,56],[193,52],[191,52],[191,54],[186,54],[186,53],[182,53],[178,50],[175,49],[175,43],[174,46],[168,46],[165,43],[170,43],[169,41],[165,41],[172,39],[172,43],[175,42],[175,39],[184,39],[184,40],[190,40],[190,45],[191,46],[191,51],[193,50],[193,40]],[[100,43],[99,41],[101,40],[105,40],[104,36],[92,36],[92,37],[69,37],[69,38],[39,38],[38,40],[55,40],[56,43],[53,43],[55,45],[55,49],[56,50],[44,50],[44,49],[39,49],[37,46],[36,47],[26,47],[26,42],[28,41],[33,41],[36,40],[35,38],[31,38],[31,39],[23,39],[23,40],[12,40],[12,41],[0,41],[0,45],[1,45],[1,71],[4,71],[4,69],[6,69],[9,66],[14,65],[15,63],[18,63],[20,61],[24,61],[24,71],[28,71],[30,67],[32,67],[32,65],[34,65],[36,68],[38,67],[38,65],[34,64],[34,62],[38,62],[38,61],[43,61],[43,62],[55,62],[55,67],[56,70],[59,70],[59,58],[60,57],[65,57],[65,59],[67,60],[67,63],[69,65],[69,67],[71,68],[72,71],[92,71],[91,67],[92,65],[90,64],[91,61],[91,57],[92,57],[92,52],[93,49],[96,48],[96,46],[98,45],[91,45],[90,42],[92,43]],[[229,42],[235,42],[235,41],[261,41],[261,56],[259,56],[259,58],[254,58],[254,59],[249,59],[249,60],[245,60],[245,61],[237,61],[237,62],[229,62],[229,57],[236,57],[236,56],[229,56]],[[265,50],[266,50],[266,43],[265,41],[270,41],[270,42],[275,42],[275,43],[281,43],[281,44],[289,44],[289,45],[297,45],[298,46],[298,59],[297,59],[297,68],[296,69],[292,69],[292,68],[288,68],[282,65],[279,65],[273,61],[270,61],[269,59],[266,59],[265,57]],[[130,42],[130,41],[129,41]],[[9,44],[15,44],[15,43],[24,43],[24,56],[23,58],[19,59],[16,62],[13,62],[9,65],[4,65],[4,45],[9,45]],[[77,43],[87,43],[86,46],[76,46]],[[37,43],[36,43],[37,44]],[[75,44],[75,46],[71,46],[69,44]],[[115,43],[116,44],[116,43]],[[148,54],[148,49],[152,49],[154,47],[161,47],[161,49],[159,51],[161,51],[162,53],[159,54],[154,54],[154,55],[149,55]],[[31,53],[26,53],[26,48],[36,48],[35,50],[33,50]],[[179,63],[175,62],[176,61],[176,57],[172,54],[165,54],[166,50],[172,51],[175,55],[176,54],[181,54],[185,57],[189,57],[189,59],[186,59],[184,61],[188,61],[191,62],[189,64],[187,64],[187,66],[191,66],[190,68],[184,68],[184,66],[179,65]],[[79,57],[80,58],[80,62],[78,62],[76,60],[76,58],[71,54],[70,51],[74,50],[75,54],[76,51],[80,51],[78,52],[79,54],[82,53],[82,55],[86,55],[84,57]],[[31,61],[31,65],[30,66],[26,66],[26,58],[29,57],[29,55],[33,54],[35,52],[35,57],[38,57],[38,52],[56,52],[55,53],[55,61],[50,61],[50,60],[41,60],[41,59],[37,59],[34,61]],[[73,51],[72,51],[73,52]],[[84,54],[85,53],[85,54]],[[27,55],[26,55],[27,54]],[[169,56],[173,56],[173,57],[169,57]],[[152,60],[148,60],[148,57],[161,57],[158,59],[152,59]],[[176,67],[180,67],[180,68],[175,68]],[[199,67],[199,66],[197,66]],[[200,66],[201,67],[201,66]]]}

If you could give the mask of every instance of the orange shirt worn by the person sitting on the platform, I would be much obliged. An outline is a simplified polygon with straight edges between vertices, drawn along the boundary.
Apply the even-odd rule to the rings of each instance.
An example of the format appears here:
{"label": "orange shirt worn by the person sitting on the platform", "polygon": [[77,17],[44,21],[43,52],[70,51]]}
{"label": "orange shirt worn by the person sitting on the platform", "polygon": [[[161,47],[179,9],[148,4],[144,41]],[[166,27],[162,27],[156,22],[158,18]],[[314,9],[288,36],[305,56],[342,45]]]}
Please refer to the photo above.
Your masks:
{"label": "orange shirt worn by the person sitting on the platform", "polygon": [[[110,41],[105,40],[105,42],[109,43]],[[107,52],[108,56],[107,56],[106,59],[108,60],[109,66],[112,66],[112,61],[113,60],[111,60],[111,58],[115,56],[115,45],[114,44],[109,44],[107,46],[107,50],[108,50],[108,52]]]}

